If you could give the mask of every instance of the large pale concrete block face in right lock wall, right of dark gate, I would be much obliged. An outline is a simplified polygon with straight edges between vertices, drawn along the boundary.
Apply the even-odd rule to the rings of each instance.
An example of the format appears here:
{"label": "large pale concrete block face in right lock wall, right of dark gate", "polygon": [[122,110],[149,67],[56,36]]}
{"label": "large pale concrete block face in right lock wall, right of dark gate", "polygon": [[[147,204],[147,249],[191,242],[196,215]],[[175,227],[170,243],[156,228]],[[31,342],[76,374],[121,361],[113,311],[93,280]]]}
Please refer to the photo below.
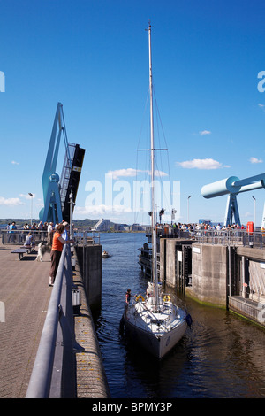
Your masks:
{"label": "large pale concrete block face in right lock wall, right of dark gate", "polygon": [[228,252],[221,245],[193,244],[193,286],[190,294],[208,304],[226,306]]}

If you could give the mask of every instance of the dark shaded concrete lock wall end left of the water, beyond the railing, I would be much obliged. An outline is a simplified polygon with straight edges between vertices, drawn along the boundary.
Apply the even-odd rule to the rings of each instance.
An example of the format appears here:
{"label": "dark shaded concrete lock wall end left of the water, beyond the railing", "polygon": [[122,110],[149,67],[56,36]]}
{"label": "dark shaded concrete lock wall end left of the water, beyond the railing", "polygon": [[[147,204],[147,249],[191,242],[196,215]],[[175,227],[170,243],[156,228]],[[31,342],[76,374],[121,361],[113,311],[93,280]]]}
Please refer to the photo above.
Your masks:
{"label": "dark shaded concrete lock wall end left of the water, beyond the railing", "polygon": [[87,302],[91,309],[102,301],[102,246],[100,244],[76,248],[80,272],[84,281]]}

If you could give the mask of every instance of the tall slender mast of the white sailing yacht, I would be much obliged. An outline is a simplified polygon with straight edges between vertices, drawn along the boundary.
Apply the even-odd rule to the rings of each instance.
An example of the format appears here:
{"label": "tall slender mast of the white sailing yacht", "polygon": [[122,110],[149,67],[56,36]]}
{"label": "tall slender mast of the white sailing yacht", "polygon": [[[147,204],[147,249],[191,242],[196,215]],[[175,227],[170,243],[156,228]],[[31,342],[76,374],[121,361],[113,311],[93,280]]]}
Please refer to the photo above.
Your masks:
{"label": "tall slender mast of the white sailing yacht", "polygon": [[153,79],[152,79],[152,51],[151,51],[151,25],[148,26],[149,42],[149,90],[150,90],[150,135],[151,135],[151,205],[152,205],[152,280],[155,283],[155,309],[158,304],[157,265],[156,265],[156,229],[155,229],[155,143],[154,143],[154,116],[153,116]]}

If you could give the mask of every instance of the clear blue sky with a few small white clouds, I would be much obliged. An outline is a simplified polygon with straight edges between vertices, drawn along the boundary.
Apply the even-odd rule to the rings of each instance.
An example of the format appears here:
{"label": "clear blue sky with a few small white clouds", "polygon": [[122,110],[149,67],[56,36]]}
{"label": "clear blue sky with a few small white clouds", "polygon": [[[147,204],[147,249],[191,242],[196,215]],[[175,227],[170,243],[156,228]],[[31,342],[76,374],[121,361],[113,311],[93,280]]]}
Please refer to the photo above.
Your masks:
{"label": "clear blue sky with a few small white clouds", "polygon": [[[113,173],[117,201],[122,198],[115,181],[133,189],[133,181],[144,175],[133,176],[135,169],[148,171],[140,165],[146,155],[137,148],[147,146],[149,19],[155,98],[169,149],[161,157],[169,166],[159,169],[170,173],[163,179],[180,184],[178,220],[187,221],[191,195],[189,221],[223,221],[226,196],[207,200],[201,187],[264,172],[265,92],[257,88],[258,73],[265,71],[260,0],[0,0],[0,15],[5,80],[0,218],[29,218],[28,192],[38,217],[42,172],[61,102],[69,142],[86,149],[74,217],[147,222],[147,216],[130,212],[133,197],[132,210],[86,208],[92,195],[86,189],[92,181],[101,183],[104,207],[106,173]],[[158,139],[163,142],[161,133]],[[245,224],[254,220],[252,196],[259,226],[263,189],[239,194],[240,217]]]}

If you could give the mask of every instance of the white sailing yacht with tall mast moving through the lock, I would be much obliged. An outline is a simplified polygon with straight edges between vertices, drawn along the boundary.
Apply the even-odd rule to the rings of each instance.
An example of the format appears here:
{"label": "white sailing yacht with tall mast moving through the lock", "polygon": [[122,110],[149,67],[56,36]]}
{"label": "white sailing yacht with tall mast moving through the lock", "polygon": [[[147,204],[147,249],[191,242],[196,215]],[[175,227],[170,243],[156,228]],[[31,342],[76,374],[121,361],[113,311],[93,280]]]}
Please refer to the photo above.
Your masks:
{"label": "white sailing yacht with tall mast moving through the lock", "polygon": [[153,83],[151,54],[151,25],[148,26],[149,46],[149,89],[150,89],[150,154],[151,154],[151,199],[152,199],[152,281],[148,282],[145,297],[139,295],[133,304],[125,306],[121,324],[126,335],[139,343],[155,358],[163,358],[185,335],[191,320],[186,311],[171,302],[169,295],[163,295],[162,284],[158,281],[156,265],[155,231],[155,143],[153,121]]}

